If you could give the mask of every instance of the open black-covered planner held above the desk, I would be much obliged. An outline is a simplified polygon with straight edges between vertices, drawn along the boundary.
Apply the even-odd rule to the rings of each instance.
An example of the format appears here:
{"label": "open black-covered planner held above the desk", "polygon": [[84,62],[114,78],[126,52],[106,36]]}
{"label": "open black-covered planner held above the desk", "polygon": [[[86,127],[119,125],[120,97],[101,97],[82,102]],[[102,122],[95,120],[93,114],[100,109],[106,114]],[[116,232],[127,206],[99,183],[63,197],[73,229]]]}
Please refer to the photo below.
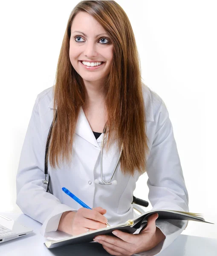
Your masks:
{"label": "open black-covered planner held above the desk", "polygon": [[98,229],[91,231],[89,233],[84,233],[78,236],[72,236],[67,239],[62,239],[58,241],[46,241],[44,244],[47,248],[51,249],[54,247],[59,247],[68,244],[80,244],[93,241],[93,238],[97,235],[110,235],[114,236],[113,230],[121,230],[127,233],[135,233],[136,230],[141,230],[141,228],[145,228],[147,225],[147,221],[150,215],[158,213],[158,220],[186,220],[186,221],[200,221],[205,223],[214,224],[211,222],[207,222],[202,217],[200,213],[192,213],[192,212],[180,212],[173,210],[151,210],[149,212],[145,212],[132,220],[128,220],[125,223],[118,224],[111,227],[106,227],[103,229]]}

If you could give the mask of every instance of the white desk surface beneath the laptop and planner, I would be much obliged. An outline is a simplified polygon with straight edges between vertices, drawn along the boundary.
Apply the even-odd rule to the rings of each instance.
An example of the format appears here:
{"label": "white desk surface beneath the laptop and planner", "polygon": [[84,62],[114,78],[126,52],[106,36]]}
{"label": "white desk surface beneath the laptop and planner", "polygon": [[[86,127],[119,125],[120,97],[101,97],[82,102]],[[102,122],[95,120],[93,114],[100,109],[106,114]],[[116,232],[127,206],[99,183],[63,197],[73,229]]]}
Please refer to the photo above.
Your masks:
{"label": "white desk surface beneath the laptop and planner", "polygon": [[[103,256],[110,255],[101,244],[91,242],[86,244],[67,245],[47,249],[43,244],[46,240],[40,233],[41,223],[25,214],[15,212],[0,212],[21,224],[32,227],[33,232],[11,241],[0,244],[1,256]],[[217,239],[200,236],[179,235],[175,241],[158,256],[217,256]]]}

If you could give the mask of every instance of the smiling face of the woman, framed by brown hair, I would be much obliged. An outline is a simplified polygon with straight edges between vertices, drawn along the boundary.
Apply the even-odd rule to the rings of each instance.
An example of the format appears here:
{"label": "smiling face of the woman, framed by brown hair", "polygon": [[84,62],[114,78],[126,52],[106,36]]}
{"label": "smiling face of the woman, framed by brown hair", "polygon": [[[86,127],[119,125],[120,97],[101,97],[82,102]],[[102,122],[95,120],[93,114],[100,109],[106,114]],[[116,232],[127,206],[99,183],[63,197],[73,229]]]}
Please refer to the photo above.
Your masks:
{"label": "smiling face of the woman, framed by brown hair", "polygon": [[[87,12],[79,12],[72,22],[69,58],[84,84],[102,84],[110,73],[113,45],[103,27]],[[95,62],[102,63],[95,67]]]}

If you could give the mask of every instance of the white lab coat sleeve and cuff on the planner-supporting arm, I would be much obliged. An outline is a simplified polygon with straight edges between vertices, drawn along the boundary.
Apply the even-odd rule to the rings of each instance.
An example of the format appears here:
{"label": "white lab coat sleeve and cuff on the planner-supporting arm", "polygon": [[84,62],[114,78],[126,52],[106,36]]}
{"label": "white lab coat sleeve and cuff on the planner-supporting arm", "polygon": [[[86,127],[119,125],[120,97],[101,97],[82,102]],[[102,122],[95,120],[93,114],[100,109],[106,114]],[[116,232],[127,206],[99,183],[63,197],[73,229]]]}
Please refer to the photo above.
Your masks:
{"label": "white lab coat sleeve and cuff on the planner-supporting arm", "polygon": [[[174,139],[173,127],[163,101],[157,113],[155,137],[147,160],[148,199],[153,209],[188,212],[188,192]],[[159,252],[168,247],[182,233],[187,223],[188,221],[156,220],[156,227],[165,235]]]}

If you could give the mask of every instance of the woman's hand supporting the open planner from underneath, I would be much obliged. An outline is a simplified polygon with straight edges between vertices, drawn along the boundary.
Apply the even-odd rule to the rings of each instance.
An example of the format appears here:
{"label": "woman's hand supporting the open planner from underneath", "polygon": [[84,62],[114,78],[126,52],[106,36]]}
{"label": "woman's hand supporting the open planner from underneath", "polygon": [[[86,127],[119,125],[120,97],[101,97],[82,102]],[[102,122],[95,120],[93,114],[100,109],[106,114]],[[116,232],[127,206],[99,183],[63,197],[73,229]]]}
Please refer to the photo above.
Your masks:
{"label": "woman's hand supporting the open planner from underneath", "polygon": [[165,235],[155,225],[157,218],[157,213],[150,215],[147,226],[139,234],[133,235],[114,230],[113,234],[116,237],[100,235],[96,236],[93,241],[102,244],[103,248],[111,255],[117,256],[131,256],[134,253],[150,250],[165,239]]}

